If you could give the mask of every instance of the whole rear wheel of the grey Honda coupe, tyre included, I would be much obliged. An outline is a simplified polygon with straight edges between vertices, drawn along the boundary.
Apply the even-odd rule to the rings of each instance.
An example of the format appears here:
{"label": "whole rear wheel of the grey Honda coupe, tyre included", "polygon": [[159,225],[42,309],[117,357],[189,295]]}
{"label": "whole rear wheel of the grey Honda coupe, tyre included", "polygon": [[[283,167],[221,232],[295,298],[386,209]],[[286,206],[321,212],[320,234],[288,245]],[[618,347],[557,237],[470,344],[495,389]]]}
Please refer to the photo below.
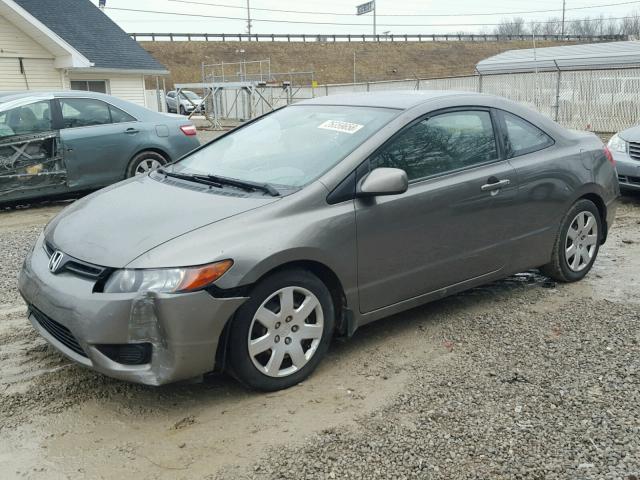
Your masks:
{"label": "whole rear wheel of the grey Honda coupe, tyre included", "polygon": [[600,249],[602,219],[590,200],[578,200],[565,215],[551,262],[541,268],[542,273],[559,282],[576,282],[589,273]]}

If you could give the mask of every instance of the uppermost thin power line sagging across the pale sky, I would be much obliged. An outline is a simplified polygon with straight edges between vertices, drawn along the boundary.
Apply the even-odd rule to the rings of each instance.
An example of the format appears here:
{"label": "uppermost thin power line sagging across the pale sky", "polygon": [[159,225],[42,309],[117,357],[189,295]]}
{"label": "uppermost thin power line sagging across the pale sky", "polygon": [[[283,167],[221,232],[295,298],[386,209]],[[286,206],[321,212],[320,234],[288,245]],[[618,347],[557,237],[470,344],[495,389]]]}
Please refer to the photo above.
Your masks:
{"label": "uppermost thin power line sagging across the pale sky", "polygon": [[[244,9],[245,7],[241,7],[238,5],[227,5],[221,3],[208,3],[208,2],[199,2],[196,0],[169,0],[174,3],[186,3],[190,5],[205,5],[209,7],[222,7],[222,8],[239,8]],[[631,5],[638,4],[640,1],[626,1],[626,2],[616,2],[616,3],[602,3],[598,5],[586,5],[583,7],[571,7],[565,8],[554,8],[547,10],[521,10],[517,12],[476,12],[476,13],[378,13],[379,17],[479,17],[479,16],[491,16],[491,15],[523,15],[528,13],[558,13],[562,11],[569,10],[587,10],[591,8],[603,8],[603,7],[615,7],[619,5]],[[336,16],[345,16],[345,17],[353,17],[355,14],[353,13],[339,13],[339,12],[316,12],[316,11],[306,11],[306,10],[282,10],[277,8],[258,8],[252,7],[251,10],[263,11],[263,12],[277,12],[277,13],[297,13],[303,15],[336,15]]]}

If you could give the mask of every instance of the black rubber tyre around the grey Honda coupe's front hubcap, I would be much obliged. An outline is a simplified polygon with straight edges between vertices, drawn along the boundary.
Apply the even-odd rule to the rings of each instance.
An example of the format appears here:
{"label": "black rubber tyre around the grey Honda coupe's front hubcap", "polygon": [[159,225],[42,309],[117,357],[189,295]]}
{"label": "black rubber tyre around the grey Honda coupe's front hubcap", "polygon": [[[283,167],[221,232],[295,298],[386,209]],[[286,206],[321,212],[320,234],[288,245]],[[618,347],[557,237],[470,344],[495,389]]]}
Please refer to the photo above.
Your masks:
{"label": "black rubber tyre around the grey Honda coupe's front hubcap", "polygon": [[[254,364],[254,360],[249,353],[249,329],[252,327],[254,315],[263,303],[270,299],[274,293],[287,287],[306,289],[315,295],[322,308],[323,330],[319,339],[319,344],[315,348],[315,353],[312,354],[311,358],[307,360],[307,363],[304,364],[302,368],[287,376],[274,377],[258,370],[258,367]],[[309,318],[311,318],[311,316]],[[288,335],[292,335],[292,333],[286,333],[286,330],[295,328],[292,325],[296,321],[297,320],[294,319],[289,325],[285,325],[283,321],[282,325],[279,327],[282,330],[274,330],[272,332],[274,335],[273,338],[278,336],[275,335],[278,332],[282,332],[283,338],[288,338]],[[304,319],[302,321],[305,322]],[[278,324],[280,323],[278,322]],[[256,325],[258,325],[258,328],[262,328],[261,324]],[[296,385],[307,378],[318,366],[322,357],[324,357],[333,336],[334,325],[335,310],[331,294],[329,293],[327,286],[318,277],[301,269],[290,269],[276,272],[256,284],[251,291],[249,300],[247,300],[247,302],[238,309],[232,319],[227,349],[227,367],[229,369],[229,373],[231,373],[243,385],[256,390],[274,391]],[[254,325],[253,328],[256,328],[256,326]],[[285,340],[283,339],[281,341],[284,342]],[[306,342],[306,340],[304,341]],[[275,343],[273,345],[276,346]],[[280,344],[280,346],[282,345],[283,344]],[[268,353],[265,352],[265,354],[270,358],[271,355],[273,355],[273,350],[269,350]],[[285,356],[283,362],[278,365],[278,371],[283,366],[285,366],[286,369],[287,361],[290,361],[291,365],[293,365],[292,358],[287,358]],[[289,368],[292,367],[289,366]]]}

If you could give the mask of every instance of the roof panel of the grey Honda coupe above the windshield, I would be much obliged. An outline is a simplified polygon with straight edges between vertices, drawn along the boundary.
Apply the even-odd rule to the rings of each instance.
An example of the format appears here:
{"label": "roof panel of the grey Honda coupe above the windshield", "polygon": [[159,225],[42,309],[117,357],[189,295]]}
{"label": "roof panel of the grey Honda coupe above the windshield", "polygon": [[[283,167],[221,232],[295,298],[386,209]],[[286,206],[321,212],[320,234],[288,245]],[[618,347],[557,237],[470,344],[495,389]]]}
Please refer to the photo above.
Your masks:
{"label": "roof panel of the grey Honda coupe above the windshield", "polygon": [[407,110],[432,100],[445,97],[476,96],[490,103],[492,95],[453,90],[385,90],[379,92],[341,93],[303,100],[296,105],[345,105],[359,107],[382,107]]}

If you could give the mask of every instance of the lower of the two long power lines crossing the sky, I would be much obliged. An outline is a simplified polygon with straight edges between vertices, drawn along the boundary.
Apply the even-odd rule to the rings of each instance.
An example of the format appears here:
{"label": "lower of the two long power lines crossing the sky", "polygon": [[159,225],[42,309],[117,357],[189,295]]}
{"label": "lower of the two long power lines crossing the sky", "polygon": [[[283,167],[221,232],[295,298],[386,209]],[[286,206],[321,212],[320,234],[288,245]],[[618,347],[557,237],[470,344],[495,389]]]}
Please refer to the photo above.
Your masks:
{"label": "lower of the two long power lines crossing the sky", "polygon": [[[194,18],[215,18],[219,20],[242,20],[244,22],[247,21],[246,17],[228,17],[222,15],[205,15],[205,14],[197,14],[197,13],[178,13],[178,12],[162,12],[157,10],[140,10],[136,8],[120,8],[120,7],[107,7],[107,10],[117,10],[123,12],[137,12],[137,13],[152,13],[158,15],[174,15],[179,17],[194,17]],[[635,17],[609,17],[607,20],[626,20]],[[600,21],[600,18],[583,18],[583,19],[574,19],[574,20],[566,20],[565,23],[572,22],[595,22]],[[303,24],[303,25],[338,25],[338,26],[347,26],[347,27],[369,27],[368,23],[342,23],[342,22],[306,22],[301,20],[270,20],[270,19],[258,19],[252,18],[252,22],[264,22],[264,23],[290,23],[290,24]],[[548,21],[532,21],[531,23],[535,24],[549,24],[549,23],[557,23],[557,20],[548,20]],[[393,24],[393,23],[383,23],[379,24],[381,27],[483,27],[483,26],[499,26],[499,25],[510,25],[514,24],[514,22],[500,22],[500,23],[401,23],[401,24]]]}

